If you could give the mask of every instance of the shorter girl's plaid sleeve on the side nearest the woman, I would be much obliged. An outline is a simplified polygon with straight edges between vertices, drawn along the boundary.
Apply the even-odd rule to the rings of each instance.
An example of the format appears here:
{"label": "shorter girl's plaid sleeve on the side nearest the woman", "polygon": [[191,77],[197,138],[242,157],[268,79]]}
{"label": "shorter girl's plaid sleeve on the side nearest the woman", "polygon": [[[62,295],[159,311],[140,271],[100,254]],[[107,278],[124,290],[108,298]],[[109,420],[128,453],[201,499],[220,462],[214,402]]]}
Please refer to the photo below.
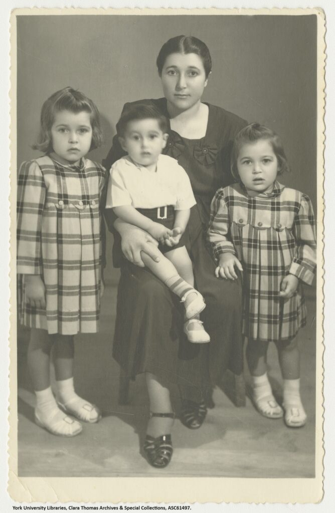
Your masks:
{"label": "shorter girl's plaid sleeve on the side nearest the woman", "polygon": [[229,224],[228,207],[222,189],[219,189],[211,204],[210,224],[207,232],[216,261],[221,253],[235,254],[234,245],[229,237]]}

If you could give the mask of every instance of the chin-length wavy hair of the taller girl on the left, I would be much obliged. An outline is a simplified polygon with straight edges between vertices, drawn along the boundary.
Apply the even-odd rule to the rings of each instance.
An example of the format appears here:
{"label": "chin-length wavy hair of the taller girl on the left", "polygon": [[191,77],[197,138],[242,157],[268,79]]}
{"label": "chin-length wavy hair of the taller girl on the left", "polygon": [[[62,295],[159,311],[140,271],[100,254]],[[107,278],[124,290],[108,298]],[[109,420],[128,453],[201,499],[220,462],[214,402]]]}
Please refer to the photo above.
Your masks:
{"label": "chin-length wavy hair of the taller girl on the left", "polygon": [[92,142],[90,150],[99,148],[103,143],[103,134],[100,126],[100,116],[96,105],[85,96],[85,94],[64,87],[44,102],[41,111],[41,127],[38,141],[32,146],[34,150],[41,150],[45,153],[52,151],[51,127],[54,123],[55,114],[62,110],[70,112],[88,112],[90,114],[90,122],[92,127]]}

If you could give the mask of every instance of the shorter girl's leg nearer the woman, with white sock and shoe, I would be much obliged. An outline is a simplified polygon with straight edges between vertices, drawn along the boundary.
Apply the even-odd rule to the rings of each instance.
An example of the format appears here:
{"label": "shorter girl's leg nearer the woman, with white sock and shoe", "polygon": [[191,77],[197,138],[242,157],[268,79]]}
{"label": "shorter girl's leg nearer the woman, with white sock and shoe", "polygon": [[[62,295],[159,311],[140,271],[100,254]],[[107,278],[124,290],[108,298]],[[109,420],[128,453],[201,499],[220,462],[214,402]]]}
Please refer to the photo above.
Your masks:
{"label": "shorter girl's leg nearer the woman, with white sock and shoe", "polygon": [[264,417],[280,419],[283,410],[273,397],[267,374],[268,342],[248,340],[246,357],[251,374],[252,399]]}

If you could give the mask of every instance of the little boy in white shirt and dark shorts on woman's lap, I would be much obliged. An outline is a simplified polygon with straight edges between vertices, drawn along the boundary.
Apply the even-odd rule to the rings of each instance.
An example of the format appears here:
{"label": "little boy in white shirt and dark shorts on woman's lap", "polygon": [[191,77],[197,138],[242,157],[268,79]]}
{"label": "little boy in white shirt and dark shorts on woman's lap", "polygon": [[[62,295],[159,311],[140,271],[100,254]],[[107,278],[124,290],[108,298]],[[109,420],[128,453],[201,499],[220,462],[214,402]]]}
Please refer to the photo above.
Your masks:
{"label": "little boy in white shirt and dark shorts on woman's lap", "polygon": [[140,104],[122,114],[117,132],[127,156],[110,169],[106,208],[159,241],[159,262],[144,252],[142,260],[184,302],[189,341],[209,342],[199,320],[205,304],[194,289],[192,262],[182,238],[196,202],[187,173],[175,159],[161,154],[167,120],[153,107]]}

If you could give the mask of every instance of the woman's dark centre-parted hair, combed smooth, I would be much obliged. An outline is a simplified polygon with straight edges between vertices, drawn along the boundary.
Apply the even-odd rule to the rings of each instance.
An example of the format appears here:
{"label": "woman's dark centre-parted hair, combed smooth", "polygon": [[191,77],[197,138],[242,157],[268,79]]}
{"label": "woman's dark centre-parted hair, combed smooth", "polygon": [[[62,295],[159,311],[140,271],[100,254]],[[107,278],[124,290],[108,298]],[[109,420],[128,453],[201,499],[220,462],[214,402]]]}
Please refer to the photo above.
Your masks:
{"label": "woman's dark centre-parted hair, combed smooth", "polygon": [[159,76],[162,75],[166,58],[171,55],[171,53],[196,53],[199,55],[206,73],[206,78],[208,78],[212,70],[211,54],[208,47],[197,37],[192,35],[177,35],[164,43],[159,51],[156,61]]}

